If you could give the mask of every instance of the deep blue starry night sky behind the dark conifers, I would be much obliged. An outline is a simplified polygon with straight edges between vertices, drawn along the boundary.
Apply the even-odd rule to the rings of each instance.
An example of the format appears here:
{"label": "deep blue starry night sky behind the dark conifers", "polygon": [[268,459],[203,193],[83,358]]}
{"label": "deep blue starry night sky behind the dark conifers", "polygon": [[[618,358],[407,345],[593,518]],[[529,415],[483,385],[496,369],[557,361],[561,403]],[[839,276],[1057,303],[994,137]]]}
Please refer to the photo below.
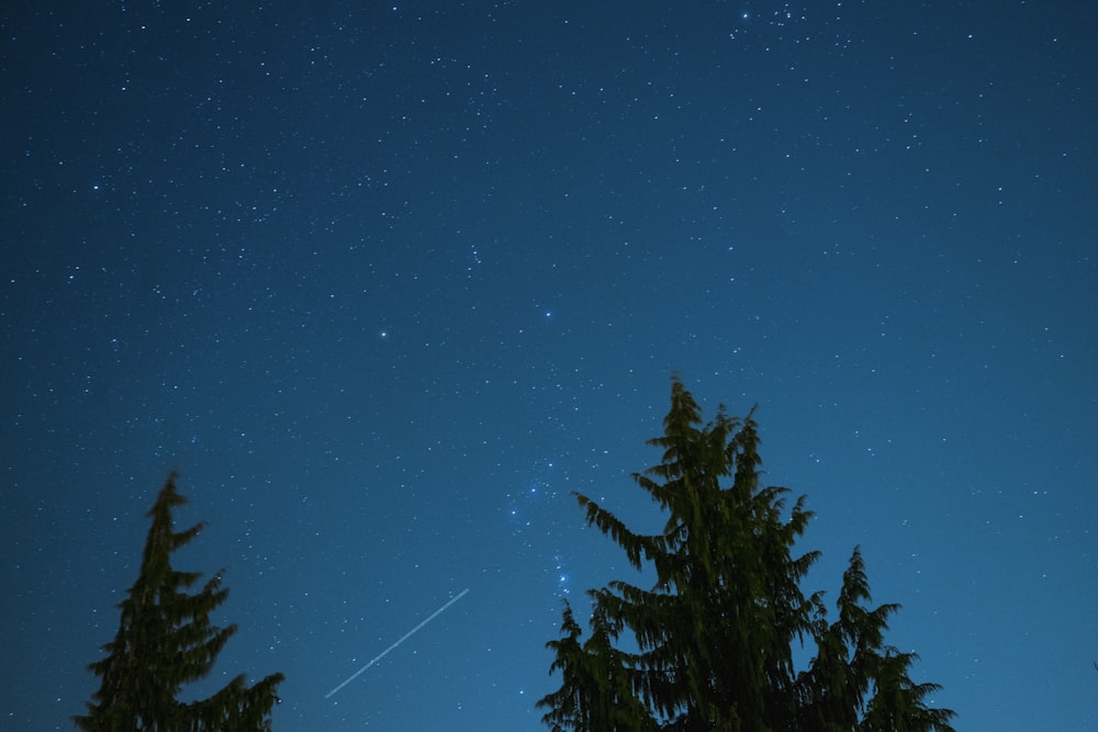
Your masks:
{"label": "deep blue starry night sky behind the dark conifers", "polygon": [[[305,8],[304,5],[312,5]],[[172,469],[274,728],[545,729],[679,374],[957,729],[1098,728],[1098,4],[0,11],[0,728]],[[383,660],[334,687],[459,593]],[[581,617],[585,612],[580,613]]]}

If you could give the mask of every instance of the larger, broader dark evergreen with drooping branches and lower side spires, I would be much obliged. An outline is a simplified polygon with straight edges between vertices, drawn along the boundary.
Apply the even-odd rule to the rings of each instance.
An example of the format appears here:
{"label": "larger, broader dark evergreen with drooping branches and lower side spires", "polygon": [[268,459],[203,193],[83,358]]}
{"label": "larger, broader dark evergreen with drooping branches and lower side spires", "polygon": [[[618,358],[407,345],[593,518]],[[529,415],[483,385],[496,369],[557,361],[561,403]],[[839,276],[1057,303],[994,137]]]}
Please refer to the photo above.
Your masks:
{"label": "larger, broader dark evergreen with drooping branches and lower side spires", "polygon": [[[591,635],[565,603],[550,673],[562,685],[538,707],[554,731],[624,732],[953,732],[954,712],[928,706],[939,687],[915,684],[914,654],[884,642],[896,605],[870,607],[869,581],[854,549],[828,621],[824,594],[802,581],[818,552],[794,543],[811,513],[802,496],[759,484],[752,415],[721,407],[703,424],[676,379],[664,433],[649,444],[660,464],[635,475],[666,516],[656,534],[636,533],[610,511],[576,495],[589,525],[653,573],[646,589],[615,581],[589,590]],[[616,643],[629,632],[630,651]],[[794,644],[815,657],[794,667]]]}

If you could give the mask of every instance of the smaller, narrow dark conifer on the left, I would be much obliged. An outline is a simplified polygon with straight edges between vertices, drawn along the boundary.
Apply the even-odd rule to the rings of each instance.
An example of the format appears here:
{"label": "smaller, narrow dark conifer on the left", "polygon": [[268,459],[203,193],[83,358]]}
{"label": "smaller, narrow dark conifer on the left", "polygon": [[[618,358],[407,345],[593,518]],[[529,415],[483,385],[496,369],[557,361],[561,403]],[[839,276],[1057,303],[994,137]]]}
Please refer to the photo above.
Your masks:
{"label": "smaller, narrow dark conifer on the left", "polygon": [[188,594],[201,574],[171,566],[172,552],[204,526],[173,530],[172,509],[187,503],[176,491],[176,477],[175,473],[168,476],[148,513],[152,527],[141,573],[119,605],[117,634],[103,646],[107,657],[88,666],[102,683],[88,703],[88,713],[74,721],[91,732],[269,731],[282,674],[271,674],[251,687],[240,675],[208,699],[177,700],[186,684],[210,673],[236,626],[219,628],[210,621],[210,613],[228,597],[222,572],[199,592]]}

